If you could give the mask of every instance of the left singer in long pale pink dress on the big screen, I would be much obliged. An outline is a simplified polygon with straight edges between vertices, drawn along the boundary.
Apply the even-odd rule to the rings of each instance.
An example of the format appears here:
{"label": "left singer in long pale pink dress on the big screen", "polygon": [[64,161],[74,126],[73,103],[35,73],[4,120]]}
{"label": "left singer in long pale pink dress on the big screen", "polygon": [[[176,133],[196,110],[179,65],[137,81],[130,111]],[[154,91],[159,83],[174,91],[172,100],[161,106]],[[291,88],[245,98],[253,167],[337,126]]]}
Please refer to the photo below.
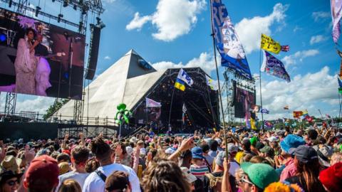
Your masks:
{"label": "left singer in long pale pink dress on the big screen", "polygon": [[26,30],[26,39],[21,38],[16,50],[16,60],[14,67],[16,69],[16,92],[24,94],[36,94],[36,65],[37,59],[34,56],[34,48],[38,45],[38,41],[32,43],[34,39],[32,28]]}

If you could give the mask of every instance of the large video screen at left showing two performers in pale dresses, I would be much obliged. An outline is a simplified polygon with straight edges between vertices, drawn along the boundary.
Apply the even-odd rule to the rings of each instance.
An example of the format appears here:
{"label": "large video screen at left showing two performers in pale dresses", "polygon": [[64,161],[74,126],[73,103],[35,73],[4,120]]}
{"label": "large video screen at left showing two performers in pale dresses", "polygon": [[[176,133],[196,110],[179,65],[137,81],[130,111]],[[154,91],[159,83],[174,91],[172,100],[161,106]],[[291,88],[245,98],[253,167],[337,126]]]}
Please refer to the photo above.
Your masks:
{"label": "large video screen at left showing two performers in pale dresses", "polygon": [[81,100],[86,36],[0,9],[0,92]]}

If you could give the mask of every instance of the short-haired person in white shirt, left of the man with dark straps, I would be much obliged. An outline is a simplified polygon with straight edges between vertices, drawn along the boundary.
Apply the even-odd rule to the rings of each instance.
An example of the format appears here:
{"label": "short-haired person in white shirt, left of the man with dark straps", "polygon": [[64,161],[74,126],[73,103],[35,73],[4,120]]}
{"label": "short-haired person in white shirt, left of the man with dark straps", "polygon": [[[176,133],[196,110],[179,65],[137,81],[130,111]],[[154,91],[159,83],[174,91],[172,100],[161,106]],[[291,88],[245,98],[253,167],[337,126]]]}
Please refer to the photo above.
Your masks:
{"label": "short-haired person in white shirt, left of the man with dark straps", "polygon": [[61,186],[61,183],[68,178],[72,178],[77,181],[82,188],[84,181],[86,181],[86,178],[89,176],[89,174],[86,172],[86,161],[88,160],[88,157],[89,150],[84,146],[76,146],[71,151],[71,161],[73,162],[74,170],[58,176],[58,188]]}

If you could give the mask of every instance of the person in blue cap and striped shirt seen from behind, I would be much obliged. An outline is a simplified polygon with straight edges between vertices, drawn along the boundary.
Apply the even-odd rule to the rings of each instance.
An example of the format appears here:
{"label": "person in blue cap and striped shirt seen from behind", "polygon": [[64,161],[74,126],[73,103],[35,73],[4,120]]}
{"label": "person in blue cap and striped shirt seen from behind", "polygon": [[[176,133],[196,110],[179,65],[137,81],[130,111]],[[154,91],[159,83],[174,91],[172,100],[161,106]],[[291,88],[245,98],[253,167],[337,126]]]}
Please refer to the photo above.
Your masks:
{"label": "person in blue cap and striped shirt seen from behind", "polygon": [[192,152],[192,165],[190,166],[190,173],[204,180],[204,175],[209,173],[209,168],[204,161],[202,148],[196,146],[191,149]]}

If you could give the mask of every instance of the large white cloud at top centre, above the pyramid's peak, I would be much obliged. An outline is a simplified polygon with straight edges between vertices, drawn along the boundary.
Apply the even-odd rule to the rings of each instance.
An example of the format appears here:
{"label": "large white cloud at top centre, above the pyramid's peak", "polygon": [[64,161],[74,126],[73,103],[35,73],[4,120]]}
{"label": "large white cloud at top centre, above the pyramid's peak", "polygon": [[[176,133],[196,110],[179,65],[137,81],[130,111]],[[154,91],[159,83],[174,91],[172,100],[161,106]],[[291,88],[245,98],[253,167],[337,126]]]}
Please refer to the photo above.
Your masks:
{"label": "large white cloud at top centre, above the pyramid's peak", "polygon": [[142,17],[135,13],[126,29],[139,30],[147,21],[151,21],[157,28],[157,33],[152,33],[154,38],[173,41],[191,31],[205,5],[205,0],[159,0],[155,13]]}

